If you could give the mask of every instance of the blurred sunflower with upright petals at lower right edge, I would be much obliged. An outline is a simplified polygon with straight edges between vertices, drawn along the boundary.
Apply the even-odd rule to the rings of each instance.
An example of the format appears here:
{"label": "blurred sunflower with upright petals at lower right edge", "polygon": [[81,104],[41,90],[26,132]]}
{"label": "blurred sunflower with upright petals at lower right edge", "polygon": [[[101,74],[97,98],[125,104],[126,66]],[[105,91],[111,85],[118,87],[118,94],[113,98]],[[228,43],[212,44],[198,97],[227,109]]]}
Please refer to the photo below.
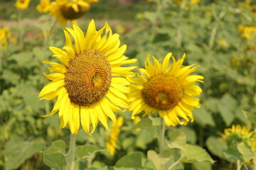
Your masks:
{"label": "blurred sunflower with upright petals at lower right edge", "polygon": [[228,147],[237,147],[238,143],[244,142],[247,147],[250,147],[252,152],[256,151],[256,138],[252,137],[255,132],[247,130],[245,126],[232,125],[231,128],[224,130],[224,134],[221,134],[223,140],[227,142]]}

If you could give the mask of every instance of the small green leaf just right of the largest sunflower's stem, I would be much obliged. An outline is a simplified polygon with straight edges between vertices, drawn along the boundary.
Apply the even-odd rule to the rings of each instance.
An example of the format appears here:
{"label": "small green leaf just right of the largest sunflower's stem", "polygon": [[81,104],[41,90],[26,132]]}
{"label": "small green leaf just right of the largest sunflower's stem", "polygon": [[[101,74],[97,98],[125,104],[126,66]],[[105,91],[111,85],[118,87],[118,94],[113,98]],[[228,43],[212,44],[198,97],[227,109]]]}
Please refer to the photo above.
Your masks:
{"label": "small green leaf just right of the largest sunflower's stem", "polygon": [[75,148],[75,153],[77,159],[86,159],[87,157],[90,157],[91,154],[95,152],[99,152],[101,149],[98,147],[95,147],[93,145],[88,146],[78,146]]}

